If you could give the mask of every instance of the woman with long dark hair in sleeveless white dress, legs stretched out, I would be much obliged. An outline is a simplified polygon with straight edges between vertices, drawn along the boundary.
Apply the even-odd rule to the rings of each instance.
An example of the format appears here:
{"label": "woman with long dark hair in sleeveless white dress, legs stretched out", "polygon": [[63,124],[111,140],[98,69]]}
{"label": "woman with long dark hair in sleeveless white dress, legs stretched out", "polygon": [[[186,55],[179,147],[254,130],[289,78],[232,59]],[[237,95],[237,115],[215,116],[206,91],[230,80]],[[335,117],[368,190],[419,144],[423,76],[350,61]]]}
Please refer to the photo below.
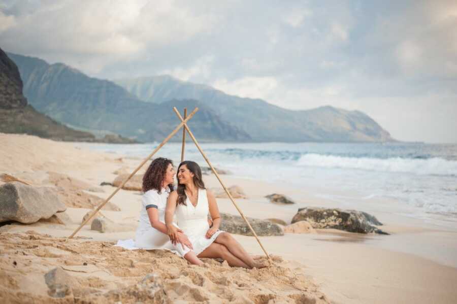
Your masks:
{"label": "woman with long dark hair in sleeveless white dress, legs stretched out", "polygon": [[[187,235],[192,251],[199,258],[222,258],[231,266],[253,268],[266,265],[255,261],[230,235],[220,231],[220,215],[213,193],[206,190],[200,166],[194,161],[183,161],[178,167],[178,189],[170,193],[165,211],[165,223],[172,243],[179,242],[179,230],[173,225],[173,216]],[[213,219],[210,227],[208,211]]]}

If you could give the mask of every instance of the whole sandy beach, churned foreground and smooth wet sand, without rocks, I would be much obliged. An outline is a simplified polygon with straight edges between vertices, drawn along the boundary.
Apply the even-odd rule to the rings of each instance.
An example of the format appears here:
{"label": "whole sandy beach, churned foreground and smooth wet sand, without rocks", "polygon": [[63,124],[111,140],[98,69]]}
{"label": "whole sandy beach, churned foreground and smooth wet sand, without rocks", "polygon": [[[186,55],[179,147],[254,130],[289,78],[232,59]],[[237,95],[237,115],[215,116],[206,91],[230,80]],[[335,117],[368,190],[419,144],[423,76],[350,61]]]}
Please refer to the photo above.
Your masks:
{"label": "whole sandy beach, churned foreground and smooth wet sand, without rocks", "polygon": [[[117,240],[135,237],[139,191],[120,190],[111,199],[111,207],[102,209],[113,222],[112,230],[100,233],[86,225],[74,239],[67,239],[90,208],[115,190],[101,183],[111,183],[117,177],[115,172],[133,171],[141,159],[17,134],[0,133],[0,143],[0,174],[32,186],[55,188],[68,198],[66,224],[40,220],[0,227],[2,302],[72,302],[76,298],[136,302],[142,300],[137,285],[151,273],[158,275],[157,282],[176,303],[457,301],[457,230],[400,216],[407,208],[403,212],[387,210],[387,200],[374,201],[363,211],[375,215],[390,235],[317,229],[309,234],[260,237],[274,266],[245,270],[205,259],[205,267],[198,267],[170,252],[128,251],[114,246]],[[290,223],[297,208],[271,204],[265,198],[271,193],[287,193],[314,207],[360,209],[336,206],[334,201],[312,195],[313,189],[230,175],[222,178],[227,186],[238,185],[245,191],[249,198],[237,202],[248,217]],[[220,187],[214,175],[204,179],[207,187]],[[238,214],[228,199],[218,199],[218,206],[221,212]],[[234,237],[251,254],[263,254],[253,237]],[[62,267],[74,279],[72,295],[60,299],[48,296],[44,275],[55,267]]]}

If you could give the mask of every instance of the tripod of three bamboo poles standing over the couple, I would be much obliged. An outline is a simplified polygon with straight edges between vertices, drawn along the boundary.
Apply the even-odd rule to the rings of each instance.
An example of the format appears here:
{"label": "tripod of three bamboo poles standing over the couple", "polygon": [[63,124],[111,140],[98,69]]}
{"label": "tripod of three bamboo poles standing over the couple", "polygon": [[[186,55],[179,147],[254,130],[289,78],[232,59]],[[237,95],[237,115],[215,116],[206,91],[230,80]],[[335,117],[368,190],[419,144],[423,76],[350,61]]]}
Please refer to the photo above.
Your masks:
{"label": "tripod of three bamboo poles standing over the couple", "polygon": [[190,118],[192,118],[192,116],[197,113],[197,111],[199,110],[199,108],[195,108],[190,114],[189,116],[186,117],[186,114],[187,114],[187,109],[184,109],[184,118],[182,118],[181,114],[179,114],[178,110],[176,109],[176,107],[173,107],[173,111],[175,111],[176,115],[178,116],[178,118],[181,120],[181,123],[169,134],[169,136],[167,138],[165,138],[164,141],[162,141],[160,143],[160,145],[158,145],[154,151],[151,152],[151,154],[149,154],[141,163],[140,165],[132,172],[130,173],[130,175],[125,179],[125,181],[122,182],[122,184],[120,184],[116,190],[114,190],[113,193],[111,193],[110,196],[108,196],[107,199],[105,199],[104,202],[102,202],[102,204],[100,204],[96,209],[94,209],[92,211],[92,213],[81,223],[81,225],[70,235],[69,239],[72,239],[76,233],[78,233],[79,230],[81,230],[81,228],[97,213],[100,211],[100,209],[102,209],[103,206],[106,205],[106,203],[125,185],[125,183],[127,183],[137,172],[138,170],[140,170],[140,168],[149,160],[152,158],[152,156],[157,153],[158,150],[160,150],[161,147],[163,147],[178,131],[179,129],[182,127],[183,128],[183,133],[182,133],[182,149],[181,149],[181,161],[184,160],[184,148],[185,148],[185,135],[186,135],[186,131],[187,133],[189,134],[190,138],[192,139],[193,143],[195,144],[195,146],[197,146],[197,148],[199,149],[200,153],[202,154],[203,158],[205,158],[206,162],[208,163],[208,165],[210,166],[211,170],[213,171],[214,175],[216,176],[217,180],[219,181],[219,183],[221,184],[222,188],[225,190],[225,192],[227,193],[228,195],[228,198],[230,198],[230,200],[232,201],[232,203],[234,204],[235,208],[238,210],[238,212],[240,213],[241,217],[244,219],[244,221],[246,222],[246,224],[248,225],[249,229],[251,230],[252,234],[254,235],[255,239],[257,240],[258,244],[260,245],[260,247],[262,248],[262,250],[265,252],[265,255],[267,256],[268,258],[268,261],[270,262],[270,264],[273,263],[270,255],[268,254],[268,252],[265,250],[264,246],[262,245],[262,243],[260,242],[260,240],[258,239],[257,237],[257,233],[255,233],[254,229],[252,229],[252,226],[251,224],[249,224],[249,221],[246,219],[246,217],[244,216],[243,212],[241,211],[241,209],[238,207],[237,203],[235,202],[234,198],[232,197],[232,195],[230,194],[230,192],[228,192],[227,188],[225,187],[224,183],[222,182],[221,178],[219,177],[219,174],[217,174],[216,170],[214,169],[213,165],[211,164],[209,158],[206,156],[205,152],[203,152],[202,148],[200,147],[199,143],[197,142],[197,140],[195,139],[195,137],[193,136],[192,132],[190,131],[189,127],[187,126],[187,121],[190,120]]}

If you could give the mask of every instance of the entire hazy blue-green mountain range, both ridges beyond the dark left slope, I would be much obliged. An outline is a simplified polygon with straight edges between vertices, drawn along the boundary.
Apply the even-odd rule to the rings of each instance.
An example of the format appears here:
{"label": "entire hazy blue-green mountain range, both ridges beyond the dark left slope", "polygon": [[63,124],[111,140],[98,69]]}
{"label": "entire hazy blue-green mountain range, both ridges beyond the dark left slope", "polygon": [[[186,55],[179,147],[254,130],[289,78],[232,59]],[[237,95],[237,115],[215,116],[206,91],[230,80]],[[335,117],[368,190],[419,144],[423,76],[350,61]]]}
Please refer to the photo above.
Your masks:
{"label": "entire hazy blue-green mountain range, both ridges beyond the dark left slope", "polygon": [[[37,110],[66,124],[161,141],[179,123],[172,107],[200,110],[189,127],[200,141],[386,142],[389,133],[360,111],[292,111],[170,76],[108,81],[39,58],[8,54]],[[179,140],[178,136],[175,140]]]}

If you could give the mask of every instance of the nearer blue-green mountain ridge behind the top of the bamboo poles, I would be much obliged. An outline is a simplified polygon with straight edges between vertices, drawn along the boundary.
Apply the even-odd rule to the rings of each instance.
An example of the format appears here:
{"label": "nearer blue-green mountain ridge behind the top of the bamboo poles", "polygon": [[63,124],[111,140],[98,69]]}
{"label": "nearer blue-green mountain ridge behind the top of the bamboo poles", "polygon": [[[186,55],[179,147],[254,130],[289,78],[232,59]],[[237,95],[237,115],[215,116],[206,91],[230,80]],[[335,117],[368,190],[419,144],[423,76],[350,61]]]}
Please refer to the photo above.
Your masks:
{"label": "nearer blue-green mountain ridge behind the top of the bamboo poles", "polygon": [[250,140],[247,133],[221,120],[197,100],[145,103],[111,81],[88,77],[65,64],[9,55],[18,65],[30,104],[58,121],[152,142],[164,139],[180,123],[172,111],[174,106],[190,111],[201,107],[189,127],[202,141]]}

